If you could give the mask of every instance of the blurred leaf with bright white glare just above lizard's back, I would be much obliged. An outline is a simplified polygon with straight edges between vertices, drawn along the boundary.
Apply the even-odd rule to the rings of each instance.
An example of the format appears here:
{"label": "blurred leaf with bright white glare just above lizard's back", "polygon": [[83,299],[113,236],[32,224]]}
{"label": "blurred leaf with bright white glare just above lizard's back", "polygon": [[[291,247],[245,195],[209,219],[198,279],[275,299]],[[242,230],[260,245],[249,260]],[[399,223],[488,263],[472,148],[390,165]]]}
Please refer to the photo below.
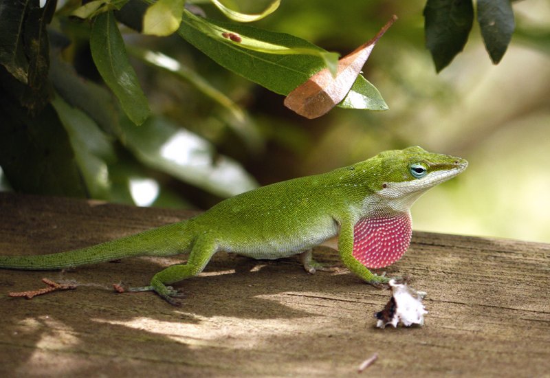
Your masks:
{"label": "blurred leaf with bright white glare just above lizard's back", "polygon": [[210,142],[164,119],[151,117],[144,127],[122,121],[126,146],[151,168],[161,170],[221,197],[256,188],[256,181]]}

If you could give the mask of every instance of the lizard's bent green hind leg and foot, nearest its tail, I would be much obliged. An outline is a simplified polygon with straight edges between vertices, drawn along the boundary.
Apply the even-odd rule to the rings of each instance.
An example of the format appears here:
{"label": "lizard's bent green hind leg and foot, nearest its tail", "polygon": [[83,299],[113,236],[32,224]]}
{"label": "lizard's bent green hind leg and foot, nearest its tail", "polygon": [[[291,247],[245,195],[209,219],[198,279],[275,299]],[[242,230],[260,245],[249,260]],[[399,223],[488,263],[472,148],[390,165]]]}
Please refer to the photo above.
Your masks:
{"label": "lizard's bent green hind leg and foot, nearest its tail", "polygon": [[171,265],[155,274],[149,286],[134,287],[129,291],[155,291],[166,302],[179,306],[180,303],[175,298],[183,297],[183,293],[168,285],[197,276],[206,267],[217,249],[215,236],[203,234],[193,244],[187,263]]}

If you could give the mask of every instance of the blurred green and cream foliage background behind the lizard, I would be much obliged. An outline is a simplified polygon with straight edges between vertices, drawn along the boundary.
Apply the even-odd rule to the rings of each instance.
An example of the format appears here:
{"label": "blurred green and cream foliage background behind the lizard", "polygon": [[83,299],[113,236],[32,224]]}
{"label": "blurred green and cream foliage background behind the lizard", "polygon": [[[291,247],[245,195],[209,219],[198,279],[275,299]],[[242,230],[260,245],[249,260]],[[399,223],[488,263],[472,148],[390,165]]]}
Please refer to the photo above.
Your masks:
{"label": "blurred green and cream foliage background behind the lizard", "polygon": [[[265,3],[239,1],[248,12],[262,10]],[[214,6],[200,5],[209,17],[224,19]],[[390,109],[335,108],[317,120],[289,111],[283,96],[223,69],[177,36],[157,38],[122,28],[151,111],[165,118],[142,126],[121,122],[133,146],[127,149],[101,142],[102,136],[85,126],[69,133],[74,145],[94,141],[96,156],[109,164],[109,178],[96,175],[96,183],[88,184],[98,190],[84,195],[206,209],[258,184],[322,173],[386,149],[419,145],[464,157],[470,166],[413,207],[416,230],[550,242],[550,3],[514,2],[516,32],[498,65],[487,56],[474,25],[463,53],[439,74],[425,47],[424,5],[425,0],[283,0],[276,12],[254,23],[345,55],[392,14],[399,17],[363,69]],[[85,30],[73,25],[72,32],[78,41]],[[142,54],[148,49],[186,67],[180,73],[185,80],[153,69]],[[86,43],[74,43],[63,58],[81,76],[99,81]],[[207,87],[197,89],[203,81]],[[218,94],[209,94],[210,88]],[[79,117],[64,106],[54,102],[60,114]],[[161,156],[181,146],[189,149],[186,162],[191,163],[183,172],[166,165]],[[216,162],[215,168],[201,169],[204,159]],[[199,168],[193,170],[193,162]],[[10,187],[0,173],[0,189]]]}

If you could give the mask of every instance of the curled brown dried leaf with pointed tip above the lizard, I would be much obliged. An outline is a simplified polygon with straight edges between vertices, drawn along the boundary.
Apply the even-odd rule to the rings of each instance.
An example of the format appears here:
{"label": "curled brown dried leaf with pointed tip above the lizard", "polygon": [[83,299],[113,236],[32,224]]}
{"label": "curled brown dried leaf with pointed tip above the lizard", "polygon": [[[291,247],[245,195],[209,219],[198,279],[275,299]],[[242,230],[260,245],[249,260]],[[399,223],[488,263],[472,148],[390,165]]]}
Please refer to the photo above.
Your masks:
{"label": "curled brown dried leaf with pointed tip above the lizard", "polygon": [[325,68],[296,87],[285,98],[285,107],[310,120],[318,118],[336,107],[336,104],[344,100],[351,89],[378,39],[384,35],[395,20],[397,20],[397,16],[394,15],[374,38],[338,60],[336,77],[333,77],[329,69]]}

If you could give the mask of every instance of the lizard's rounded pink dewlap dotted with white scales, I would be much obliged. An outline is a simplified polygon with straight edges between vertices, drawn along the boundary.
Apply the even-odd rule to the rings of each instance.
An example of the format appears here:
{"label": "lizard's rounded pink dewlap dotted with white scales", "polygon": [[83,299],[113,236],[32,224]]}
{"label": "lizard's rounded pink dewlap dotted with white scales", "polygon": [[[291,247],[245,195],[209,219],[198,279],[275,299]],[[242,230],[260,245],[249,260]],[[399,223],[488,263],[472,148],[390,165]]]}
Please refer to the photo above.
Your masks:
{"label": "lizard's rounded pink dewlap dotted with white scales", "polygon": [[368,268],[395,263],[410,244],[410,214],[363,218],[353,229],[353,257]]}

